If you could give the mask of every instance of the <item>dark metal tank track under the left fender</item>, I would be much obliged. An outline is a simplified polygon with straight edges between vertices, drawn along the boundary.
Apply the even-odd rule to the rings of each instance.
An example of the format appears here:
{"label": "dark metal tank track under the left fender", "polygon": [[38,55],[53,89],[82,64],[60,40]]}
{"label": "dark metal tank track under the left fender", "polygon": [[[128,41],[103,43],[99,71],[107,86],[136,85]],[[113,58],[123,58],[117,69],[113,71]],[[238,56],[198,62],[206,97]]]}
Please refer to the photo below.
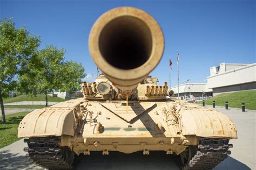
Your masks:
{"label": "dark metal tank track under the left fender", "polygon": [[73,169],[72,162],[66,155],[68,147],[60,147],[60,139],[57,137],[42,137],[24,139],[28,147],[24,151],[28,152],[26,157],[33,163],[48,169]]}

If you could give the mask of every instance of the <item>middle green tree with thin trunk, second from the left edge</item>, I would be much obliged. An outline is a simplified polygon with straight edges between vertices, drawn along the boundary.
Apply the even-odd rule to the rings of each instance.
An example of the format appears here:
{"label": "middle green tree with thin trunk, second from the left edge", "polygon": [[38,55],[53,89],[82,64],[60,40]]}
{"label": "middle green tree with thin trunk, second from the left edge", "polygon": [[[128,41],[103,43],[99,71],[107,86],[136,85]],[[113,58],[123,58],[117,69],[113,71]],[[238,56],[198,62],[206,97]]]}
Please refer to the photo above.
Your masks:
{"label": "middle green tree with thin trunk, second from the left edge", "polygon": [[55,46],[46,46],[37,52],[36,58],[31,60],[27,72],[20,77],[20,84],[24,91],[33,94],[45,94],[45,106],[48,107],[48,91],[62,88],[62,65],[65,50]]}

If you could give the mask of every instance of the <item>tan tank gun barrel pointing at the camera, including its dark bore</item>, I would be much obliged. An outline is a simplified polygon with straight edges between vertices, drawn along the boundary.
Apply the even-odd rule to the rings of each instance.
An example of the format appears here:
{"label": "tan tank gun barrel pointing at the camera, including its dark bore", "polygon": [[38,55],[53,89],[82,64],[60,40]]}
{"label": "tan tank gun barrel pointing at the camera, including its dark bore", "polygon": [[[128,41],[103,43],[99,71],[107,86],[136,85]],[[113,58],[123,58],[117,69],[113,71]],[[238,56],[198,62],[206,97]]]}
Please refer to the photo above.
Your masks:
{"label": "tan tank gun barrel pointing at the camera, including its dark bore", "polygon": [[89,50],[107,79],[132,89],[158,65],[164,36],[145,11],[120,7],[105,12],[92,26]]}

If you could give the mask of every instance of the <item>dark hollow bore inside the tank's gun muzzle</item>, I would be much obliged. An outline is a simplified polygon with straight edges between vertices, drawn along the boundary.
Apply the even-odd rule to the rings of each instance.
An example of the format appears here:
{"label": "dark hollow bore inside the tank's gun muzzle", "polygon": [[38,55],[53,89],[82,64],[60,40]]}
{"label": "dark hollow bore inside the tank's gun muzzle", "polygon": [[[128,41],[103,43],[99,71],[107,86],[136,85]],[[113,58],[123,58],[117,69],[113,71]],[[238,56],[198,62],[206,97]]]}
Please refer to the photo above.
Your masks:
{"label": "dark hollow bore inside the tank's gun muzzle", "polygon": [[142,66],[151,55],[150,29],[137,17],[114,18],[100,33],[99,50],[103,58],[114,67],[133,69]]}

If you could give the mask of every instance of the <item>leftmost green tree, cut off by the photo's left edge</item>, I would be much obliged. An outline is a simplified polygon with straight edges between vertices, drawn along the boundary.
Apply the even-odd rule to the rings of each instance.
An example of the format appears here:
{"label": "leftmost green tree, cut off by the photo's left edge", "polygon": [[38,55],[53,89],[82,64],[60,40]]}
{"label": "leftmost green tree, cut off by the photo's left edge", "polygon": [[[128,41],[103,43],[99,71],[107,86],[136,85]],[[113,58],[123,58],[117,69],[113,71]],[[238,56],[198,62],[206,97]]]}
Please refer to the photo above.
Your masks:
{"label": "leftmost green tree, cut off by the photo's left edge", "polygon": [[0,104],[3,123],[3,96],[17,87],[17,77],[26,69],[39,44],[39,37],[29,34],[25,26],[16,29],[12,19],[0,20]]}

